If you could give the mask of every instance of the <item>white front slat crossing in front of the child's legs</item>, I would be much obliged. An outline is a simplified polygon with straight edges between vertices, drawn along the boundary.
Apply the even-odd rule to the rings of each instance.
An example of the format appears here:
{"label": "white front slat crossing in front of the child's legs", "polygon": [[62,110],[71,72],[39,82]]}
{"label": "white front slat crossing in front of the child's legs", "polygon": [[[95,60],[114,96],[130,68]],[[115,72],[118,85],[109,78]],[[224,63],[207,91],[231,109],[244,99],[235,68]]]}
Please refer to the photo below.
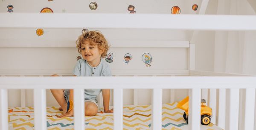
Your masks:
{"label": "white front slat crossing in front of the child's legs", "polygon": [[74,89],[75,130],[84,130],[84,89]]}

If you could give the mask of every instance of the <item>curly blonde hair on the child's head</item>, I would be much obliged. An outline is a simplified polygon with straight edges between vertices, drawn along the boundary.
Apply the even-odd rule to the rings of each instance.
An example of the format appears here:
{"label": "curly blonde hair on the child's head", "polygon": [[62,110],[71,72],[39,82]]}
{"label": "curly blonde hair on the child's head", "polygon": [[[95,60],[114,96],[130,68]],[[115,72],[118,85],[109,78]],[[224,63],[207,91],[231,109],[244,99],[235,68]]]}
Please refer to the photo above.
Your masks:
{"label": "curly blonde hair on the child's head", "polygon": [[108,41],[105,39],[104,35],[98,31],[87,31],[83,32],[82,35],[78,37],[76,40],[76,48],[78,52],[81,54],[81,45],[84,44],[84,41],[90,41],[92,45],[98,45],[98,48],[102,50],[101,58],[105,58],[107,56],[107,52],[109,49]]}

